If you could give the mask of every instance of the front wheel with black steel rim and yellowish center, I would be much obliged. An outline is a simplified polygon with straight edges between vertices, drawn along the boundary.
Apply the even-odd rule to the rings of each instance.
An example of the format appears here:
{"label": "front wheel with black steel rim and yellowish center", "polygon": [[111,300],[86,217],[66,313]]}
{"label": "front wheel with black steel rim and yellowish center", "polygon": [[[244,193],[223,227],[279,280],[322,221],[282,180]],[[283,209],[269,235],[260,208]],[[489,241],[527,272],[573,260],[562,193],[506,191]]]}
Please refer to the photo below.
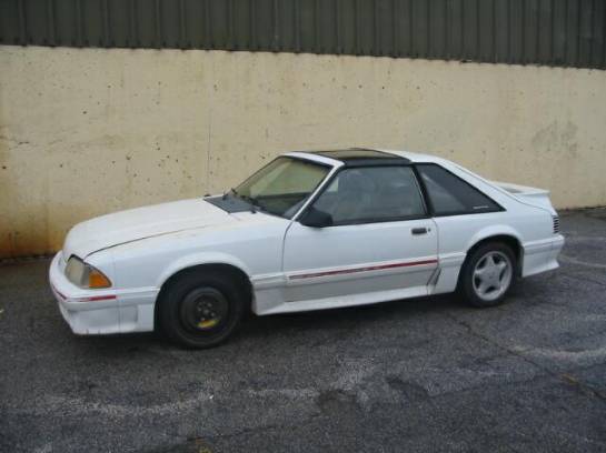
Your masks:
{"label": "front wheel with black steel rim and yellowish center", "polygon": [[[169,282],[158,301],[161,332],[183,348],[217,346],[237,330],[247,299],[242,285],[229,274],[212,270],[185,272]],[[213,306],[210,311],[209,303]],[[201,318],[196,320],[196,315]]]}

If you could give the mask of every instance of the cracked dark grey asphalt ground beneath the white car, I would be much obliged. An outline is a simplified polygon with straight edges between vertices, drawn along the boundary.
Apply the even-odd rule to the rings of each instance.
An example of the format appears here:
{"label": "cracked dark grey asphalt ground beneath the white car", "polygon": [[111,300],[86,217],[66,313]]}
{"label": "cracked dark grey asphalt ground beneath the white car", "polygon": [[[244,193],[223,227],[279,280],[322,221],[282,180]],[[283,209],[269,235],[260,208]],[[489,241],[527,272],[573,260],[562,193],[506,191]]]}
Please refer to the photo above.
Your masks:
{"label": "cracked dark grey asphalt ground beneath the white car", "polygon": [[251,318],[209,351],[74,336],[48,261],[1,265],[0,451],[604,452],[606,209],[562,229],[562,268],[499,308]]}

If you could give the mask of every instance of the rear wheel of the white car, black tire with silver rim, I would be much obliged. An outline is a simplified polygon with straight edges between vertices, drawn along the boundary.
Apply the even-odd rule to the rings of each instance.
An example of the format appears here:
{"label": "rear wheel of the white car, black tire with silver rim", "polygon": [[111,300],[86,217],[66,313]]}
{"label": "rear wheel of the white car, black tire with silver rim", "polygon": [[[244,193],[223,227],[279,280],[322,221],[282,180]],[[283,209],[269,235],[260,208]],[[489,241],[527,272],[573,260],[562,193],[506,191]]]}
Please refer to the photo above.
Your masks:
{"label": "rear wheel of the white car, black tire with silver rim", "polygon": [[[488,264],[488,262],[490,262],[488,256],[491,256],[491,262],[495,263],[494,266]],[[500,262],[505,264],[500,264]],[[509,272],[508,279],[505,273],[501,274],[501,271],[499,270],[499,266],[501,265],[508,266],[505,271]],[[487,280],[494,282],[493,288],[481,280],[484,276],[476,273],[483,271],[485,266],[490,273]],[[515,281],[516,269],[516,256],[507,244],[504,244],[503,242],[487,242],[480,244],[471,250],[463,264],[457,293],[460,299],[473,306],[488,308],[498,305],[503,303]],[[488,285],[486,291],[479,291],[483,283],[484,288]]]}

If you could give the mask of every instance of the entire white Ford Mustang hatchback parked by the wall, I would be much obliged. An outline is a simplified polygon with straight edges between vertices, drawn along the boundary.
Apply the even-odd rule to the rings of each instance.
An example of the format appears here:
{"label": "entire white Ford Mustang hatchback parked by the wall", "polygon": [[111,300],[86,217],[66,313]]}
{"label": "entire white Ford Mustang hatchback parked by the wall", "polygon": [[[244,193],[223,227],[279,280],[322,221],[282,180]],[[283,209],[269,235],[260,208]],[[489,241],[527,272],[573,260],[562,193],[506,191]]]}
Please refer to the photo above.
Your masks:
{"label": "entire white Ford Mustang hatchback parked by the wall", "polygon": [[160,328],[189,348],[242,314],[457,291],[476,306],[558,266],[548,192],[400,151],[289,152],[222,195],[76,225],[50,266],[78,334]]}

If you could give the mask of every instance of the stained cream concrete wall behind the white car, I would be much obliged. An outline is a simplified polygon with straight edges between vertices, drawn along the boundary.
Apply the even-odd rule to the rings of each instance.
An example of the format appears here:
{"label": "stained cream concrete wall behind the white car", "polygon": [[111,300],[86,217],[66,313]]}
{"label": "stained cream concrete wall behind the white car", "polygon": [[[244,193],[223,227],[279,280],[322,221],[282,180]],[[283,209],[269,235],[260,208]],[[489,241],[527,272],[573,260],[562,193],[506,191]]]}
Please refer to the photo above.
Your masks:
{"label": "stained cream concrete wall behind the white car", "polygon": [[0,256],[236,184],[282,150],[440,154],[606,204],[606,72],[222,51],[0,47]]}

